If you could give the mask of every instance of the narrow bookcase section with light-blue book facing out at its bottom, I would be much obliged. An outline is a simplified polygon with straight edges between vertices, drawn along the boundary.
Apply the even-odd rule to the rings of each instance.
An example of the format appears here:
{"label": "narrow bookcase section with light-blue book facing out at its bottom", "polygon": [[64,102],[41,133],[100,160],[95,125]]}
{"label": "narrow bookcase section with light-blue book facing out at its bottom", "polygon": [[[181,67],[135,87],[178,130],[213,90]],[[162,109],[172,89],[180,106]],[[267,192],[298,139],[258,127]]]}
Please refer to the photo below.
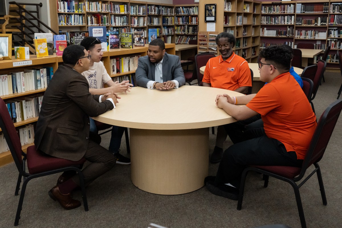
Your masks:
{"label": "narrow bookcase section with light-blue book facing out at its bottom", "polygon": [[161,4],[147,4],[147,43],[162,38]]}

